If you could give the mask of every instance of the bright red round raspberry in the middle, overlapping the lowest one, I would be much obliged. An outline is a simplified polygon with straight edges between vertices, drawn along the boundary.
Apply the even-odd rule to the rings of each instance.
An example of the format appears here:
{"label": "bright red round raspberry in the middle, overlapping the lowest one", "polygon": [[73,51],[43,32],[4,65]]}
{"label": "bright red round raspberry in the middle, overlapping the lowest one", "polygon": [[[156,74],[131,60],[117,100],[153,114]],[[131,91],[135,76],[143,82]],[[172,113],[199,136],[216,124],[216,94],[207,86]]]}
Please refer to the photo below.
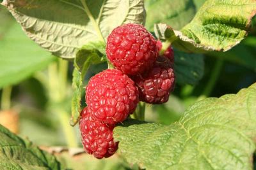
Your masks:
{"label": "bright red round raspberry in the middle, overlapping the lowest one", "polygon": [[117,69],[96,74],[86,87],[86,103],[93,117],[105,124],[124,121],[136,109],[138,96],[134,81]]}

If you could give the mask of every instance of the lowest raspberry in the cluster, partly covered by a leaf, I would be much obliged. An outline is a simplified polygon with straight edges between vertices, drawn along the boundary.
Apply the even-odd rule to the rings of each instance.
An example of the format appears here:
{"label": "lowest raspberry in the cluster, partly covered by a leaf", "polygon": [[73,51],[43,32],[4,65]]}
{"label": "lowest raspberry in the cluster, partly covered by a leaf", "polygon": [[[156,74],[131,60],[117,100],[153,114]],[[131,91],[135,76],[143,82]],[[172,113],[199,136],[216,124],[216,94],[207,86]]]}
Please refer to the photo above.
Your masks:
{"label": "lowest raspberry in the cluster, partly covered by a leaf", "polygon": [[87,153],[102,159],[110,157],[116,152],[118,143],[113,141],[114,126],[95,120],[87,107],[81,112],[79,127],[84,150]]}

